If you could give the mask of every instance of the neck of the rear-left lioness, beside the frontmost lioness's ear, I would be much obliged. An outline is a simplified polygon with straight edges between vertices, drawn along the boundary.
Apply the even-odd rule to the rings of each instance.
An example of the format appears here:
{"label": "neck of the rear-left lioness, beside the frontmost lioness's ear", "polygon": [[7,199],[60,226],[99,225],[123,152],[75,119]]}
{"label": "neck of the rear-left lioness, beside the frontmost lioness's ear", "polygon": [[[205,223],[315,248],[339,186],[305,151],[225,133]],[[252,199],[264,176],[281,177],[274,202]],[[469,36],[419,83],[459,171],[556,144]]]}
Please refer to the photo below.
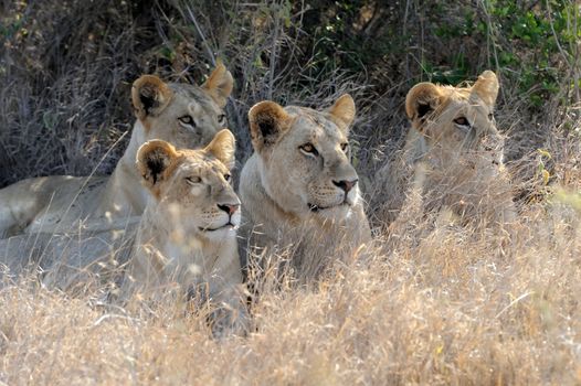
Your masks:
{"label": "neck of the rear-left lioness, beside the frontmost lioness's ear", "polygon": [[128,216],[144,212],[149,193],[141,186],[135,160],[139,147],[145,141],[145,127],[138,119],[134,125],[129,146],[105,187],[101,205],[103,213],[109,212],[113,216]]}

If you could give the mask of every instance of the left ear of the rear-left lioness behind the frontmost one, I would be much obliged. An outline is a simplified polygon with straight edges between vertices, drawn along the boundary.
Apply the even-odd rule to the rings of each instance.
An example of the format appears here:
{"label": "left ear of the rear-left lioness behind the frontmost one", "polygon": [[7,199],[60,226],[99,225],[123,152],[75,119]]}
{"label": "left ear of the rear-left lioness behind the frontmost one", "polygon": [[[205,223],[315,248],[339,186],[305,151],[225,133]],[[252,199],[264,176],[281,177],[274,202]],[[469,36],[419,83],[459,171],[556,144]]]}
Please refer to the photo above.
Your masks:
{"label": "left ear of the rear-left lioness behind the frontmost one", "polygon": [[135,115],[140,120],[159,115],[168,106],[172,95],[163,81],[155,75],[142,75],[131,87]]}

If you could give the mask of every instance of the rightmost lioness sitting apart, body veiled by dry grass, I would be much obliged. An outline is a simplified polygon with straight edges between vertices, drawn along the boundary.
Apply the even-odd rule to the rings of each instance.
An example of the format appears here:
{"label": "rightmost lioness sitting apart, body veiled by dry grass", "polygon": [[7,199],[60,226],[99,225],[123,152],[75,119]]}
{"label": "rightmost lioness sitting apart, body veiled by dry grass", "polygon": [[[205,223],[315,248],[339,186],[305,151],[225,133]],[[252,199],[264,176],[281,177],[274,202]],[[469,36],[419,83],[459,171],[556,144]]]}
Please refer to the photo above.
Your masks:
{"label": "rightmost lioness sitting apart, body veiled by dry grass", "polygon": [[505,136],[494,119],[498,89],[492,71],[473,86],[426,82],[410,89],[405,112],[412,128],[404,148],[377,174],[372,205],[381,222],[392,224],[413,192],[423,211],[451,211],[462,223],[514,219]]}

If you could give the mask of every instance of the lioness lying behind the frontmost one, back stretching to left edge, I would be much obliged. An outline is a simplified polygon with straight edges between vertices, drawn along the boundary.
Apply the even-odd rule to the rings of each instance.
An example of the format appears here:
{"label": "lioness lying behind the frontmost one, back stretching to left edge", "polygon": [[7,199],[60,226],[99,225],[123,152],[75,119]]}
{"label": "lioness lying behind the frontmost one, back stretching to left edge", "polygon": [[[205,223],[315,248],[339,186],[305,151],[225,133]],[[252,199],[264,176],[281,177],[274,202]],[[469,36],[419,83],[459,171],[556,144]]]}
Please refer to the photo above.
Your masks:
{"label": "lioness lying behind the frontmost one, back stretching to left edge", "polygon": [[137,149],[154,138],[179,148],[208,144],[226,126],[223,108],[232,86],[232,75],[222,64],[201,87],[141,76],[131,89],[137,120],[113,174],[35,178],[0,190],[0,237],[67,230],[86,219],[107,228],[117,218],[141,214],[147,192],[135,165]]}

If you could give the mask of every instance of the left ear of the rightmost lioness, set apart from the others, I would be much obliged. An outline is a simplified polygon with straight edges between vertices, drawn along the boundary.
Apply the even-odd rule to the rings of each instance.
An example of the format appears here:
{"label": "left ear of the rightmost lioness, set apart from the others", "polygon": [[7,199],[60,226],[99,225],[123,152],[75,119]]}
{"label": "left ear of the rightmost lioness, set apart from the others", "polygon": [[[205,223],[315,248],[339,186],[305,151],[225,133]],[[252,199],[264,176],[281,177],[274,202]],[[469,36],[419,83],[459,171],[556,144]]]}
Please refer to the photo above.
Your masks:
{"label": "left ear of the rightmost lioness, set apart from the others", "polygon": [[410,89],[405,97],[405,114],[412,126],[422,131],[425,118],[442,103],[440,88],[430,82],[419,83]]}

